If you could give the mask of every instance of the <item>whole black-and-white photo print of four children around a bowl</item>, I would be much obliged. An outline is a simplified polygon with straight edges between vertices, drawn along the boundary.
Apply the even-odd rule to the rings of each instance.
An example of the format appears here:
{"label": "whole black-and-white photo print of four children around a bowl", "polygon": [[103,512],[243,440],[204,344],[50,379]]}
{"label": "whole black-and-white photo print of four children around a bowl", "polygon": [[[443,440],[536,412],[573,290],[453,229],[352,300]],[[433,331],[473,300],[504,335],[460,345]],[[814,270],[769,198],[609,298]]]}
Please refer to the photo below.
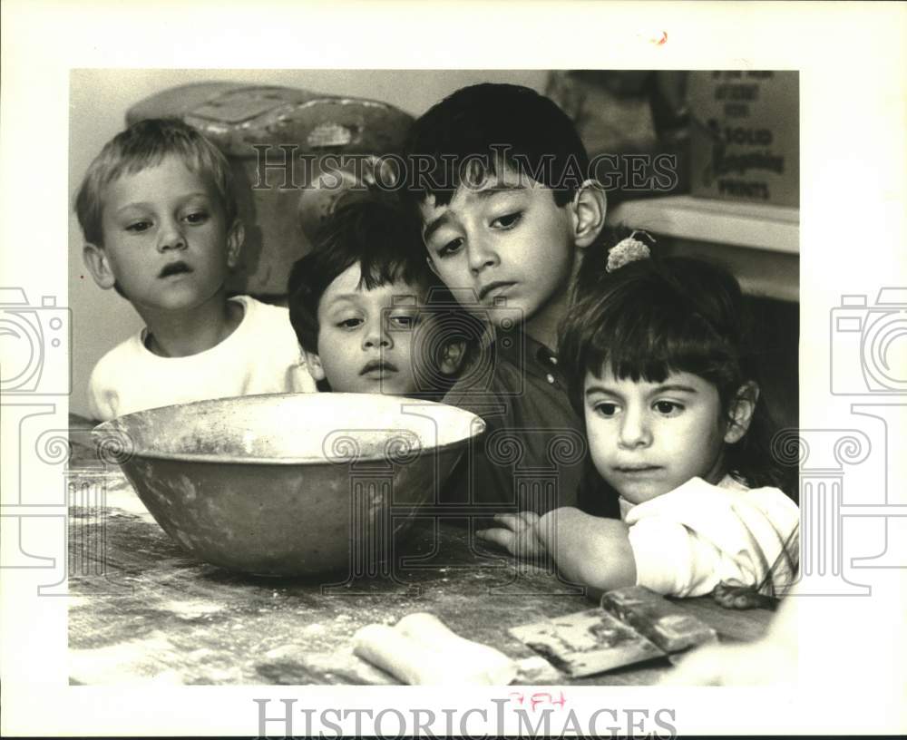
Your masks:
{"label": "whole black-and-white photo print of four children around a bowl", "polygon": [[[769,449],[797,425],[797,73],[207,74],[72,76],[93,355],[70,414],[108,423],[128,481],[103,548],[71,552],[104,573],[70,579],[71,680],[647,685],[762,637],[798,560]],[[99,100],[124,110],[109,139]],[[668,492],[703,509],[674,552],[618,511]],[[95,502],[73,505],[92,542]]]}

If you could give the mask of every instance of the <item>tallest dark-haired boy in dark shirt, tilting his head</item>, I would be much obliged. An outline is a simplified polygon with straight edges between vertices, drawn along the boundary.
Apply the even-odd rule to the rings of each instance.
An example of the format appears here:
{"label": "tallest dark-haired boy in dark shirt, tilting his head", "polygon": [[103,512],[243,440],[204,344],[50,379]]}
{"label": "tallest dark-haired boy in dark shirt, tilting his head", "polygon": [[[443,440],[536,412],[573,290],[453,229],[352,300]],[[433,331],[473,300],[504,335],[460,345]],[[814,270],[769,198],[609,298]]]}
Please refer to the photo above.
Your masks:
{"label": "tallest dark-haired boy in dark shirt, tilting his head", "polygon": [[424,113],[407,154],[428,264],[493,328],[487,384],[459,382],[444,399],[487,424],[453,473],[450,500],[470,511],[576,505],[594,475],[558,368],[557,328],[606,201],[585,177],[573,122],[529,88],[479,84]]}

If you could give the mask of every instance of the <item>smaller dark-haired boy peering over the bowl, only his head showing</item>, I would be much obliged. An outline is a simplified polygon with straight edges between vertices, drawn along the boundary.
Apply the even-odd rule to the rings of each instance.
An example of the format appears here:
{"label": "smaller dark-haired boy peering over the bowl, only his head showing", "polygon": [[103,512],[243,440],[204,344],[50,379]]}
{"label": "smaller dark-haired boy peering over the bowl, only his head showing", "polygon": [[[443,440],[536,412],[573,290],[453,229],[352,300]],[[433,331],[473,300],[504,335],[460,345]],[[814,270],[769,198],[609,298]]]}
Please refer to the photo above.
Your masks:
{"label": "smaller dark-haired boy peering over the bowl, only his head showing", "polygon": [[290,322],[319,388],[435,398],[452,385],[470,319],[424,260],[406,259],[421,243],[413,214],[355,200],[297,260]]}

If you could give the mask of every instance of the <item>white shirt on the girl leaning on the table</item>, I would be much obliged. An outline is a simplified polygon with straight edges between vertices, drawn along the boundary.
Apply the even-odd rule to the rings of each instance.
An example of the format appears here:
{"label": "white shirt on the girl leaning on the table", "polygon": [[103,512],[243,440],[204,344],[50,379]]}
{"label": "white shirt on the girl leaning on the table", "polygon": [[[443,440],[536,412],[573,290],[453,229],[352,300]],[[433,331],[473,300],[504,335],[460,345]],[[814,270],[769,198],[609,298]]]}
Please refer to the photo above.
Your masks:
{"label": "white shirt on the girl leaning on the table", "polygon": [[621,499],[620,515],[637,585],[660,594],[701,596],[721,581],[756,586],[770,571],[766,595],[795,581],[800,510],[776,488],[748,489],[729,475],[717,485],[693,478],[635,506]]}

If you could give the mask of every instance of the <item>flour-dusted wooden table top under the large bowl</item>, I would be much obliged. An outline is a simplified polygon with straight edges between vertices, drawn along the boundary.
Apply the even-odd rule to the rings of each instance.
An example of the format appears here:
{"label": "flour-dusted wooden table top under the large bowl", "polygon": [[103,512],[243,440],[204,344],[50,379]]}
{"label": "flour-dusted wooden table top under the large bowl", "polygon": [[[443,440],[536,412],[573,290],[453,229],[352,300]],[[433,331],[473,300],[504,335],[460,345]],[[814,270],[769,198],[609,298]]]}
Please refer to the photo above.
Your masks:
{"label": "flour-dusted wooden table top under the large bowl", "polygon": [[[429,518],[416,520],[398,543],[393,579],[266,579],[221,570],[181,550],[122,473],[83,469],[80,455],[90,452],[73,442],[73,684],[392,684],[352,655],[358,628],[426,611],[457,634],[522,659],[534,654],[508,628],[594,606],[550,572],[518,572],[468,527]],[[728,611],[711,598],[679,603],[723,641],[759,638],[772,617],[764,609]],[[523,673],[518,681],[649,685],[669,668],[659,659],[580,680]]]}

